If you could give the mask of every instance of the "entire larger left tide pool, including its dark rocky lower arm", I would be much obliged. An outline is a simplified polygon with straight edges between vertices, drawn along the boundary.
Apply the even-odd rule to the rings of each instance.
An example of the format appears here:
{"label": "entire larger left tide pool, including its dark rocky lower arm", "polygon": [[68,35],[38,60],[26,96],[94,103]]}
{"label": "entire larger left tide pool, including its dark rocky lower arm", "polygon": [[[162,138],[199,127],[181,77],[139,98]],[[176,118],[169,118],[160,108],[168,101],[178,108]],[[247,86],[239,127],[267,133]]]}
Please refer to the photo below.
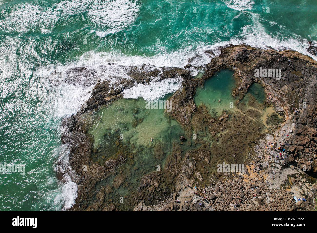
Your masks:
{"label": "entire larger left tide pool, including its dark rocky lower arm", "polygon": [[[179,137],[185,136],[184,130],[176,120],[169,118],[166,109],[147,109],[142,98],[119,99],[109,107],[96,110],[89,118],[87,134],[93,141],[93,161],[103,165],[119,154],[126,158],[115,172],[96,184],[98,189],[113,189],[107,199],[129,197],[133,202],[133,194],[142,177],[163,170],[167,157],[175,148],[191,148],[190,139],[184,143],[180,141]],[[118,184],[116,180],[123,182]],[[133,206],[118,204],[120,210],[130,210]]]}

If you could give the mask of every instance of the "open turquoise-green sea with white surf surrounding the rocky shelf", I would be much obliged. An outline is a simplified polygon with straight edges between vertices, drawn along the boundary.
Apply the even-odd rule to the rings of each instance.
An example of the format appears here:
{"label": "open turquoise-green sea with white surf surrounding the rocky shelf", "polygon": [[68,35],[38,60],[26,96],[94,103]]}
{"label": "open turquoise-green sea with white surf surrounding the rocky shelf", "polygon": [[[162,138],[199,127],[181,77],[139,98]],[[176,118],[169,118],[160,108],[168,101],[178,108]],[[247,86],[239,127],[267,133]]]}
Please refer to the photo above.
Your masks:
{"label": "open turquoise-green sea with white surf surrounding the rocky shelf", "polygon": [[[90,87],[84,77],[56,86],[39,74],[43,67],[183,67],[192,57],[198,66],[210,61],[204,50],[217,43],[305,54],[307,41],[316,43],[314,0],[238,2],[233,7],[220,0],[0,0],[0,162],[26,165],[25,175],[0,174],[0,210],[61,210],[74,203],[75,187],[65,188],[54,169],[57,158],[68,154],[61,145],[61,119],[76,112]],[[119,66],[98,75],[122,77]],[[73,76],[63,71],[63,77]],[[146,144],[147,135],[138,130]]]}

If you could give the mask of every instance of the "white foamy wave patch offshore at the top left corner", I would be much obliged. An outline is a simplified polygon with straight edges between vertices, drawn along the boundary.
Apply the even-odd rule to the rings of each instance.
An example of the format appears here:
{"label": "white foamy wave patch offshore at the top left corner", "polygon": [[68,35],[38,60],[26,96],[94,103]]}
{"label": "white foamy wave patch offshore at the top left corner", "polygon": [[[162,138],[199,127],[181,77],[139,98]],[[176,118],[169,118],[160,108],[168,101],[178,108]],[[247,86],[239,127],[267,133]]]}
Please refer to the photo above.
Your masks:
{"label": "white foamy wave patch offshore at the top left corner", "polygon": [[92,26],[105,30],[106,34],[115,33],[135,21],[139,5],[138,1],[131,0],[65,0],[46,8],[22,3],[9,13],[6,9],[3,11],[6,17],[4,28],[26,32],[40,27],[42,32],[47,33],[61,17],[87,13]]}

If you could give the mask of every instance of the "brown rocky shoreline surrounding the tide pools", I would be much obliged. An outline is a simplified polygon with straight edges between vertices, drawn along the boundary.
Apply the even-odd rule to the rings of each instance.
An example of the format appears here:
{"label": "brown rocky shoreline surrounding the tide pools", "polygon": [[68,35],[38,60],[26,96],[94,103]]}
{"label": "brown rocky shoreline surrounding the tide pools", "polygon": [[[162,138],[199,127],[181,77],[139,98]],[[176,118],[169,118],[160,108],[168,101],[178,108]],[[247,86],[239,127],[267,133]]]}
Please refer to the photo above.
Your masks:
{"label": "brown rocky shoreline surrounding the tide pools", "polygon": [[[255,77],[255,69],[260,67],[281,69],[281,79]],[[190,68],[191,65],[184,69],[128,67],[126,74],[130,79],[115,84],[95,77],[97,84],[91,98],[78,113],[62,122],[65,131],[61,139],[63,144],[68,144],[70,154],[69,168],[63,158],[59,159],[59,176],[63,180],[67,173],[78,185],[78,197],[70,210],[312,210],[317,189],[317,62],[295,51],[236,45],[221,48],[219,56],[200,68],[204,71],[201,78],[192,77]],[[237,87],[232,94],[238,111],[224,111],[216,117],[206,107],[196,107],[194,96],[197,87],[221,69],[235,72]],[[94,73],[86,68],[82,72]],[[182,78],[183,88],[169,98],[173,104],[171,112],[166,114],[177,120],[185,138],[191,138],[192,132],[200,133],[195,142],[175,143],[172,152],[166,155],[162,170],[140,177],[139,187],[131,188],[122,203],[120,197],[113,196],[113,190],[125,185],[127,175],[118,173],[118,169],[132,163],[136,155],[129,152],[129,145],[119,143],[115,155],[104,165],[94,163],[87,115],[122,98],[124,89],[136,83],[149,83],[153,77],[154,81]],[[256,107],[273,106],[284,117],[268,135],[262,132],[259,116],[242,104],[248,88],[256,82],[272,96],[264,106]],[[285,149],[283,158],[277,149],[279,143]],[[184,150],[183,145],[195,148]],[[244,171],[242,174],[212,172],[224,160],[243,163]],[[104,184],[111,176],[114,176],[113,183]],[[294,196],[304,197],[306,201],[295,201]]]}

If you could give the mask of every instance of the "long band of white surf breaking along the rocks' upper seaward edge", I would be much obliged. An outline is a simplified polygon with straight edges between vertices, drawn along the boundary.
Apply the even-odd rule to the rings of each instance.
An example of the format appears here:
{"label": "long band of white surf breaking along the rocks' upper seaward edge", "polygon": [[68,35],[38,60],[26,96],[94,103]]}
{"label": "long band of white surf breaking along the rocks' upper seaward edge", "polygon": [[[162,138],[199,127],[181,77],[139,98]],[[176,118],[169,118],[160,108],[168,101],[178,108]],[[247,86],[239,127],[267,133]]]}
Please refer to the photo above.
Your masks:
{"label": "long band of white surf breaking along the rocks' upper seaward edge", "polygon": [[[146,64],[148,69],[153,69],[159,67],[178,67],[183,68],[185,65],[190,63],[192,65],[189,68],[192,71],[192,75],[196,75],[198,73],[198,69],[195,67],[204,66],[209,63],[211,59],[214,57],[212,55],[206,54],[205,51],[211,50],[215,56],[219,55],[219,48],[227,46],[229,44],[237,45],[246,43],[256,48],[268,49],[272,47],[276,50],[282,49],[293,49],[301,52],[302,54],[311,56],[315,60],[317,57],[311,55],[307,52],[306,48],[309,47],[307,40],[301,40],[299,37],[297,39],[293,38],[283,38],[281,41],[270,36],[265,28],[259,21],[259,15],[255,13],[251,13],[252,19],[254,21],[253,25],[248,25],[243,28],[242,33],[239,37],[234,37],[230,41],[218,42],[212,45],[200,44],[196,49],[193,49],[191,46],[180,51],[174,51],[171,53],[167,53],[164,49],[161,49],[161,53],[158,55],[147,57],[147,56],[127,56],[119,52],[99,52],[95,53],[93,51],[87,52],[80,57],[78,61],[72,62],[65,66],[59,66],[58,68],[62,71],[67,71],[70,68],[75,67],[86,67],[86,68],[94,68],[97,71],[96,76],[103,80],[110,80],[112,84],[118,83],[121,79],[129,79],[130,77],[125,73],[125,67],[128,66],[139,66],[141,67],[143,64]],[[316,43],[316,42],[314,42]],[[108,65],[108,63],[111,63]],[[114,65],[112,65],[114,63]],[[103,66],[103,69],[100,69],[100,65]],[[152,66],[151,66],[152,65]],[[54,69],[49,69],[49,72],[53,72]],[[80,75],[79,73],[75,73],[74,75]],[[83,77],[84,78],[84,77]],[[89,98],[89,91],[92,86],[83,87],[81,83],[78,84],[64,84],[57,87],[61,98],[57,98],[56,106],[58,109],[56,113],[59,116],[65,114],[75,113],[76,110],[82,105],[84,100]],[[151,88],[146,87],[138,87],[138,90],[143,93],[139,93],[137,96],[149,96],[148,92]],[[155,96],[163,96],[164,88],[159,88],[158,92],[161,91],[162,94],[155,94]],[[173,89],[175,91],[175,89]],[[131,91],[125,91],[126,98],[132,95]],[[129,95],[127,95],[129,93]],[[153,93],[152,93],[153,94]]]}

